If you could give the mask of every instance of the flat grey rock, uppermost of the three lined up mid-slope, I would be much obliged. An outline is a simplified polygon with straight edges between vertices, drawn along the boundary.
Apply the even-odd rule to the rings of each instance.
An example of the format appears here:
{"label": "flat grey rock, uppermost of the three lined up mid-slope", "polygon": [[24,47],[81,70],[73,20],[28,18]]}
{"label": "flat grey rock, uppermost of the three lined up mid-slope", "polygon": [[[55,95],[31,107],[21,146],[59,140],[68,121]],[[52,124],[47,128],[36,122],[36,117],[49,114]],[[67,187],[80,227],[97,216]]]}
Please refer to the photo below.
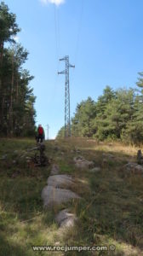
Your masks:
{"label": "flat grey rock, uppermost of the three lined up mid-slope", "polygon": [[63,188],[68,187],[73,184],[72,177],[66,174],[49,176],[47,181],[49,186],[53,186],[54,188]]}

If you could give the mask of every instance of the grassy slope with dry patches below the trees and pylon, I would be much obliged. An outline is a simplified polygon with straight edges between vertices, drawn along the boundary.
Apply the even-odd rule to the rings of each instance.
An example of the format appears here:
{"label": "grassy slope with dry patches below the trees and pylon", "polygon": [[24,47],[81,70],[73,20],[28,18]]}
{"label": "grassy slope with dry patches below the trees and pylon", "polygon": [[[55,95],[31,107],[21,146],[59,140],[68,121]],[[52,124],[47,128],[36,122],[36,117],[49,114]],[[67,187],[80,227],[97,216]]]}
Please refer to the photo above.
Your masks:
{"label": "grassy slope with dry patches below the trees and pylon", "polygon": [[[123,173],[123,165],[135,160],[137,148],[83,139],[46,143],[46,154],[60,166],[60,173],[76,177],[72,190],[83,199],[44,211],[41,191],[50,166],[36,168],[20,159],[34,144],[27,139],[3,139],[0,143],[0,157],[8,155],[7,160],[0,160],[0,256],[63,255],[31,250],[31,245],[56,242],[60,245],[115,244],[117,247],[116,253],[82,255],[143,255],[143,177],[125,177]],[[55,145],[60,147],[59,151],[54,150]],[[94,160],[102,171],[93,174],[78,170],[73,164],[73,157],[78,155],[73,152],[74,148],[79,148],[80,155],[86,159]],[[113,154],[114,158],[103,153]],[[79,221],[73,230],[61,234],[54,216],[65,207],[71,207]]]}

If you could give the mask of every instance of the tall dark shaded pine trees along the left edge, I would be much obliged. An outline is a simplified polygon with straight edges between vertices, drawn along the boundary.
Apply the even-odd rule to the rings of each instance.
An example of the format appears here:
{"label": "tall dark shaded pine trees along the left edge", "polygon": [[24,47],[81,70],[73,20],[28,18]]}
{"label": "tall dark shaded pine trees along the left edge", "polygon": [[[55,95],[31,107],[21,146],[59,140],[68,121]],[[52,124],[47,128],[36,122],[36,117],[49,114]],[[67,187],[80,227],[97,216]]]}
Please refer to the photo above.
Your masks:
{"label": "tall dark shaded pine trees along the left edge", "polygon": [[34,78],[23,67],[28,52],[16,43],[20,27],[8,5],[0,3],[0,135],[31,136],[35,131]]}

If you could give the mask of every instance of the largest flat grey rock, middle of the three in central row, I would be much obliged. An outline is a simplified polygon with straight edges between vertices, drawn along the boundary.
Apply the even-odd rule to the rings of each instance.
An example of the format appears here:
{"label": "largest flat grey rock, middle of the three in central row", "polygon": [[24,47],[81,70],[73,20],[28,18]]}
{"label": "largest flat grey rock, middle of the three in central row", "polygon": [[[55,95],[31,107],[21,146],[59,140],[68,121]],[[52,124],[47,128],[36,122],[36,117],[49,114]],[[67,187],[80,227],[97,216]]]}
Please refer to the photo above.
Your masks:
{"label": "largest flat grey rock, middle of the three in central row", "polygon": [[68,189],[56,189],[54,186],[46,186],[42,191],[43,206],[60,205],[72,199],[79,199],[76,193]]}

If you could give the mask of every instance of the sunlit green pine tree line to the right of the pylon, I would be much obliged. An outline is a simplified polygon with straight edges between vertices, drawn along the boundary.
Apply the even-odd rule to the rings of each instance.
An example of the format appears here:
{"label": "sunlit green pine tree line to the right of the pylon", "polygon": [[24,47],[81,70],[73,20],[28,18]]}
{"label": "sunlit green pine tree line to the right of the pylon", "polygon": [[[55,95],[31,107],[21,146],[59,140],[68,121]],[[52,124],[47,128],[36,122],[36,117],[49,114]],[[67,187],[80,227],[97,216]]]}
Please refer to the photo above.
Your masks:
{"label": "sunlit green pine tree line to the right of the pylon", "polygon": [[[96,102],[88,97],[77,104],[72,136],[143,143],[143,73],[139,73],[136,85],[118,90],[106,86]],[[57,137],[64,137],[64,127]]]}

